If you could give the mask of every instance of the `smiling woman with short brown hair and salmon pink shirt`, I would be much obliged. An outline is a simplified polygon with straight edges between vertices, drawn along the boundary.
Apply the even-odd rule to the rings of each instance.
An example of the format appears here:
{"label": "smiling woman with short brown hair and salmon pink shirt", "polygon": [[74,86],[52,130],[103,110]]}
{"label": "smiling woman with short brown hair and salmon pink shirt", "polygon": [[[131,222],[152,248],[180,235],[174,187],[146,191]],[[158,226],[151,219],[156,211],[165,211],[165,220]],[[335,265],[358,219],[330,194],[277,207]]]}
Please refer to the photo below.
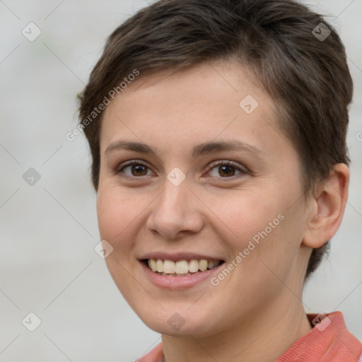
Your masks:
{"label": "smiling woman with short brown hair and salmon pink shirt", "polygon": [[358,361],[302,291],[346,206],[352,81],[291,0],[161,0],[110,35],[79,127],[105,260],[162,344],[139,361]]}

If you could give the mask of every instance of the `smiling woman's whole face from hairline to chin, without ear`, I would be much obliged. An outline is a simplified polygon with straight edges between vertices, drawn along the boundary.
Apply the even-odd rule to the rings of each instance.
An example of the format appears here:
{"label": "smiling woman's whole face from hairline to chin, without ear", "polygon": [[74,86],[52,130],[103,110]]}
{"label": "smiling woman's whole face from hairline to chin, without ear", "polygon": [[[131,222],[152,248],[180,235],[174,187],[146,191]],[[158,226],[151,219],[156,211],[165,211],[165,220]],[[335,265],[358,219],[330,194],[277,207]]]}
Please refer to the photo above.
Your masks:
{"label": "smiling woman's whole face from hairline to chin, without ear", "polygon": [[284,313],[300,292],[300,162],[278,117],[231,62],[144,76],[107,106],[100,237],[115,284],[151,329],[217,334]]}

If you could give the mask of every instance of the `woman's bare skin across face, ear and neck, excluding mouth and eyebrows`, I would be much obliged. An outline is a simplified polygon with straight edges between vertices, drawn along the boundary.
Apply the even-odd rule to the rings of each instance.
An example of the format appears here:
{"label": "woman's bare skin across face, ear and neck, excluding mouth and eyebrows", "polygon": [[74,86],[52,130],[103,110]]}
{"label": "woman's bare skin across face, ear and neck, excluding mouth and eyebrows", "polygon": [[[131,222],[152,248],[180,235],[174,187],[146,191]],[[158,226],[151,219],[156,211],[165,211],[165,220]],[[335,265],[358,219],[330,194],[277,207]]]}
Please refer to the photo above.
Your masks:
{"label": "woman's bare skin across face, ear and neck, excluding mouth and eyebrows", "polygon": [[[251,114],[239,105],[246,95],[259,103]],[[107,268],[141,320],[163,334],[166,361],[275,361],[312,329],[301,300],[305,269],[312,247],[341,222],[346,165],[305,200],[298,154],[273,101],[233,62],[141,74],[102,122],[97,212],[100,236],[114,248]],[[142,142],[156,156],[105,153],[118,140]],[[192,156],[197,144],[230,140],[260,152]],[[132,173],[122,168],[129,160],[147,168]],[[225,175],[224,160],[244,172]],[[167,178],[175,167],[186,175],[178,186]],[[218,286],[165,290],[141,268],[139,258],[159,250],[207,252],[228,265],[279,214],[284,220]],[[174,313],[185,321],[177,330],[168,324]]]}

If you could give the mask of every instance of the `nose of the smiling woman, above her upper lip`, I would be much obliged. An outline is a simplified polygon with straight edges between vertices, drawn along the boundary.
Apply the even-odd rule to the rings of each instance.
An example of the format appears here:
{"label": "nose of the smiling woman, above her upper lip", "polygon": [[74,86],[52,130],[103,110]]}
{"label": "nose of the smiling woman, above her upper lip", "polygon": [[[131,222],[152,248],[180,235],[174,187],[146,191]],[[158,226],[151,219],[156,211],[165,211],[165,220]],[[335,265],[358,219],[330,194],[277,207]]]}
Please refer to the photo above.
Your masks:
{"label": "nose of the smiling woman, above her upper lip", "polygon": [[202,204],[186,181],[175,186],[166,179],[163,192],[152,205],[146,227],[162,238],[177,240],[202,230]]}

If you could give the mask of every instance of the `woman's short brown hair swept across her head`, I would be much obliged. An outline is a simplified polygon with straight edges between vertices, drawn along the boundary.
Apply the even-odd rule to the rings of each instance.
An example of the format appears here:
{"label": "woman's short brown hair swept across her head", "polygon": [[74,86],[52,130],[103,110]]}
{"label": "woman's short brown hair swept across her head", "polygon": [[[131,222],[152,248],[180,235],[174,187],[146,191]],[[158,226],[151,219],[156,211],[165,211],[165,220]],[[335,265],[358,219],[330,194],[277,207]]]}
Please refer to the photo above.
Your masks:
{"label": "woman's short brown hair swept across her head", "polygon": [[[335,163],[349,165],[346,132],[353,83],[344,45],[322,16],[293,0],[160,0],[108,37],[79,97],[79,126],[91,148],[95,190],[103,112],[93,119],[89,115],[110,90],[134,69],[141,77],[221,59],[247,66],[279,106],[281,127],[300,156],[305,192]],[[306,276],[328,244],[313,250]]]}

